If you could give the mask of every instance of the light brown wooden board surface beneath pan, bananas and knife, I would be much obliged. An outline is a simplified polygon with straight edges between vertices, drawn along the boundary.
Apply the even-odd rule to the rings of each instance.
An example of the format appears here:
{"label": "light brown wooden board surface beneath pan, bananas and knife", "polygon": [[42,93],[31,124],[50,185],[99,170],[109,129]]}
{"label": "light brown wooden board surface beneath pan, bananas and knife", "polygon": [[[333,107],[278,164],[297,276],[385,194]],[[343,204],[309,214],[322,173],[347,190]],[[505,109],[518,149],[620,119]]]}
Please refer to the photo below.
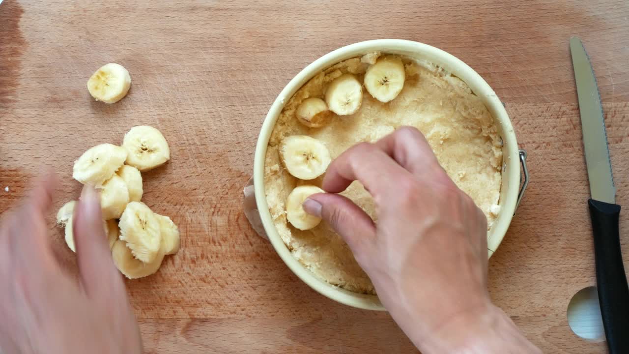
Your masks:
{"label": "light brown wooden board surface beneath pan, bananas and knife", "polygon": [[[51,166],[63,178],[60,207],[81,189],[70,175],[83,151],[153,125],[172,160],[144,174],[144,200],[179,224],[182,249],[127,283],[147,353],[414,352],[386,313],[335,304],[292,275],[248,225],[241,195],[267,109],[303,67],[360,40],[425,42],[489,82],[529,153],[531,184],[490,261],[493,299],[547,353],[604,353],[566,319],[572,295],[595,283],[568,40],[579,35],[591,56],[617,202],[629,206],[628,16],[626,0],[4,0],[0,211]],[[133,77],[115,105],[86,89],[107,62]],[[629,262],[629,215],[621,219]],[[75,269],[62,230],[51,234]]]}

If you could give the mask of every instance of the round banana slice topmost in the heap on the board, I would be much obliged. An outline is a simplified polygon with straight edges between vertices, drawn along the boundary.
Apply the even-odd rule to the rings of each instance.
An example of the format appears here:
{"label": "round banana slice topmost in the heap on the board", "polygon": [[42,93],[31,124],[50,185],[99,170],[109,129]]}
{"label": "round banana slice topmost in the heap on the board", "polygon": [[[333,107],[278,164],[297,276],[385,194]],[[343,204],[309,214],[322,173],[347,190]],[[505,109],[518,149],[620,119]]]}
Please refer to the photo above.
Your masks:
{"label": "round banana slice topmost in the heap on the board", "polygon": [[148,125],[133,127],[123,140],[122,146],[129,153],[126,164],[140,171],[148,171],[170,159],[170,149],[164,135]]}

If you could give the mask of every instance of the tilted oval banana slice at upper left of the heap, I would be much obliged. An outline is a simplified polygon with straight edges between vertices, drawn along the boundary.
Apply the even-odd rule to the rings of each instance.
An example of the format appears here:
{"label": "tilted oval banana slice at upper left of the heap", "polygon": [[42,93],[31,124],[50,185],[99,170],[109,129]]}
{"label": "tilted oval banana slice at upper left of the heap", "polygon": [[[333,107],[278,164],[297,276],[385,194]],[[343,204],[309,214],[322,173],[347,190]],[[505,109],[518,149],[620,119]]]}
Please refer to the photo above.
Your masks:
{"label": "tilted oval banana slice at upper left of the heap", "polygon": [[100,187],[125,163],[126,158],[123,147],[112,144],[94,146],[74,161],[72,178],[84,185]]}

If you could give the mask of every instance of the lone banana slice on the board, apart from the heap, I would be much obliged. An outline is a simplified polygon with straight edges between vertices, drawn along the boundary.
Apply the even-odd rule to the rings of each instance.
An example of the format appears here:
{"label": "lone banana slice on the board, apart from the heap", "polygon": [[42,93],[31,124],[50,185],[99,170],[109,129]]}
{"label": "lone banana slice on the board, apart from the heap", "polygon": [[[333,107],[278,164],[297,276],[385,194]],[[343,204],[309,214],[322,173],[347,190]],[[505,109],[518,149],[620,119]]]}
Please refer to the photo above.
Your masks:
{"label": "lone banana slice on the board, apart from the heap", "polygon": [[131,76],[120,64],[101,66],[87,80],[87,90],[96,101],[116,103],[122,100],[131,87]]}

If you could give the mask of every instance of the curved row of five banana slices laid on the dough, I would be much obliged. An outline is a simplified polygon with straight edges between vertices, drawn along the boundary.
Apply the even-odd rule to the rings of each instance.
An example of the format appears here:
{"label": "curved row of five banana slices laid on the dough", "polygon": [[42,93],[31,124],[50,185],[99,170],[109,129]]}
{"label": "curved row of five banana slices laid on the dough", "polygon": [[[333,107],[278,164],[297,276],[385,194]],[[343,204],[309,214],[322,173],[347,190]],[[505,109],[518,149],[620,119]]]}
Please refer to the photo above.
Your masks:
{"label": "curved row of five banana slices laid on the dough", "polygon": [[[387,103],[404,88],[406,71],[402,59],[396,56],[379,58],[365,72],[363,84],[376,100]],[[353,74],[342,74],[325,91],[325,100],[310,97],[295,111],[297,120],[310,128],[320,128],[336,115],[352,115],[362,105],[362,86]],[[330,151],[320,140],[307,135],[291,135],[282,140],[279,148],[288,173],[300,180],[314,180],[325,173],[331,162]],[[324,193],[318,186],[301,185],[288,195],[286,219],[299,230],[316,227],[321,219],[307,214],[302,204],[309,196]]]}

